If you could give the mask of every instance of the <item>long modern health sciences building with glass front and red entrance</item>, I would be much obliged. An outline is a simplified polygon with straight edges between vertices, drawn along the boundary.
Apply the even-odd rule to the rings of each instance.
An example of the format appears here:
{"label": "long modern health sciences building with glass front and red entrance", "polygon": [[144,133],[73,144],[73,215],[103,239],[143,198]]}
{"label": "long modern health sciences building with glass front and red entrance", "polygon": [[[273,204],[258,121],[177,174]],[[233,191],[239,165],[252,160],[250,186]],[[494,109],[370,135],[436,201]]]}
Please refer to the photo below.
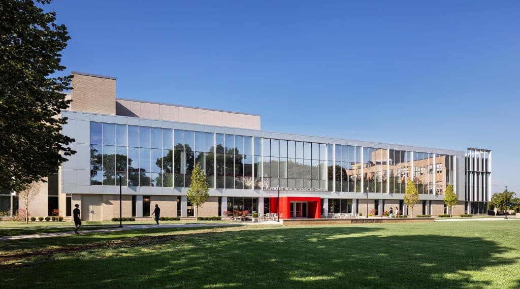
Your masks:
{"label": "long modern health sciences building with glass front and red entrance", "polygon": [[[415,215],[447,213],[448,184],[460,200],[453,214],[487,214],[489,150],[265,132],[259,115],[116,98],[114,77],[72,74],[63,133],[77,153],[42,186],[33,216],[56,208],[70,216],[80,204],[85,220],[119,217],[120,180],[124,217],[148,217],[155,204],[163,216],[193,216],[186,192],[196,163],[211,188],[199,216],[276,213],[278,204],[281,218],[380,215],[390,207],[406,214],[409,178],[421,198]],[[0,195],[4,215],[17,203],[16,193]]]}

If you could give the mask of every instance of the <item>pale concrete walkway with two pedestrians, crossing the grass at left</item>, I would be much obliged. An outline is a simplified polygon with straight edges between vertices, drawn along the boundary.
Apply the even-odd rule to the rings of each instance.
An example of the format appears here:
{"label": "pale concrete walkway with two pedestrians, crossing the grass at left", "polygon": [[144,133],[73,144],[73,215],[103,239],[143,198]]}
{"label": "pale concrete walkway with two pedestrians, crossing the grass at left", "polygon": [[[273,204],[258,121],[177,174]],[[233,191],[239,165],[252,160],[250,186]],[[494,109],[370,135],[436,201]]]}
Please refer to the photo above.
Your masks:
{"label": "pale concrete walkway with two pedestrians, crossing the grass at left", "polygon": [[[108,233],[108,232],[119,232],[125,230],[136,230],[136,229],[154,229],[154,228],[193,228],[193,227],[229,227],[229,226],[244,226],[244,225],[254,225],[255,223],[224,223],[224,224],[163,224],[163,225],[125,225],[123,228],[113,227],[107,229],[93,229],[93,230],[80,230],[80,234],[88,234],[88,233]],[[259,223],[256,223],[258,225]],[[263,223],[265,224],[265,222]],[[63,227],[60,227],[63,228]],[[28,234],[28,235],[16,235],[16,236],[4,236],[0,237],[0,242],[2,241],[11,241],[11,240],[22,240],[22,239],[39,239],[39,238],[48,238],[48,237],[59,237],[65,235],[73,235],[73,229],[67,232],[55,232],[55,233],[40,233],[40,234]]]}

